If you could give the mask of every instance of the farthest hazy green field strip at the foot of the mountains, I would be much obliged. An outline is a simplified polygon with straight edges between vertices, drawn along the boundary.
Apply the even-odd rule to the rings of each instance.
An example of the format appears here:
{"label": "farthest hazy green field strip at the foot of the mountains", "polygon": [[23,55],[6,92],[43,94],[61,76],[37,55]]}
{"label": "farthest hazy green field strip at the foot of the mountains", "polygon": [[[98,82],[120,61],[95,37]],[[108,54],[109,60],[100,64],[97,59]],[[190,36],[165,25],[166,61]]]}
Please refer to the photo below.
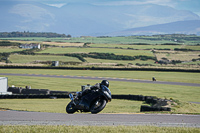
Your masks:
{"label": "farthest hazy green field strip at the foot of the mountains", "polygon": [[48,42],[83,42],[95,44],[186,44],[195,45],[200,43],[199,36],[194,35],[166,35],[166,36],[127,36],[127,37],[72,37],[72,38],[45,38],[45,37],[13,37],[1,38],[2,40],[23,40],[23,41],[48,41]]}

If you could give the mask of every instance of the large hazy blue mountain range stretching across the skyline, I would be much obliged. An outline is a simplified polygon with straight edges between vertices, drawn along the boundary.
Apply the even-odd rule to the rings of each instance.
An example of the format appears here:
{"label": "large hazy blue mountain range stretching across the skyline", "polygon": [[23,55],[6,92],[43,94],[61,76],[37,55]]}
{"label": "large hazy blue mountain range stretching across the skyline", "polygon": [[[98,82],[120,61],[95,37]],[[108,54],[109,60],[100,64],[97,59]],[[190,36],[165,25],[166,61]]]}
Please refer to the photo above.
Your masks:
{"label": "large hazy blue mountain range stretching across the skyline", "polygon": [[[142,34],[149,34],[149,31],[154,29],[150,28],[150,25],[156,26],[175,22],[173,24],[174,28],[179,27],[180,22],[177,21],[188,23],[190,20],[200,20],[198,15],[190,11],[176,10],[168,6],[155,4],[111,6],[68,3],[61,8],[57,8],[35,1],[3,0],[0,1],[0,12],[0,32],[56,32],[72,36],[99,36],[126,29],[137,30],[136,34],[140,30]],[[160,26],[169,25],[163,24],[163,26]],[[188,26],[193,25],[187,24]],[[144,32],[144,29],[137,29],[137,27],[149,27],[149,29],[147,29],[148,32]],[[160,33],[162,31],[165,33],[163,28],[161,31],[156,29],[155,32]],[[185,30],[184,32],[188,34],[191,31]]]}

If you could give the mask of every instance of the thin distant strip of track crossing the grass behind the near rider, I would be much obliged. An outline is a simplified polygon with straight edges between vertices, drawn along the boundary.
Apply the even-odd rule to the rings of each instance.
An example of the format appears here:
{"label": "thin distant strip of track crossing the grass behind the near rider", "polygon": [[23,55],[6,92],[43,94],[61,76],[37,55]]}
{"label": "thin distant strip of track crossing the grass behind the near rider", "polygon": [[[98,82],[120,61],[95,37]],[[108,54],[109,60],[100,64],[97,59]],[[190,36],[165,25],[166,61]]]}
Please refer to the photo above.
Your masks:
{"label": "thin distant strip of track crossing the grass behind the near rider", "polygon": [[138,80],[138,79],[126,79],[126,78],[110,78],[110,77],[89,77],[89,76],[69,76],[69,75],[43,75],[43,74],[13,74],[13,73],[0,73],[0,75],[9,76],[33,76],[33,77],[49,77],[49,78],[70,78],[70,79],[90,79],[90,80],[102,80],[107,79],[111,81],[122,82],[137,82],[137,83],[150,83],[150,84],[167,84],[167,85],[181,85],[181,86],[196,86],[200,87],[200,84],[195,83],[183,83],[183,82],[166,82],[166,81],[150,81],[150,80]]}

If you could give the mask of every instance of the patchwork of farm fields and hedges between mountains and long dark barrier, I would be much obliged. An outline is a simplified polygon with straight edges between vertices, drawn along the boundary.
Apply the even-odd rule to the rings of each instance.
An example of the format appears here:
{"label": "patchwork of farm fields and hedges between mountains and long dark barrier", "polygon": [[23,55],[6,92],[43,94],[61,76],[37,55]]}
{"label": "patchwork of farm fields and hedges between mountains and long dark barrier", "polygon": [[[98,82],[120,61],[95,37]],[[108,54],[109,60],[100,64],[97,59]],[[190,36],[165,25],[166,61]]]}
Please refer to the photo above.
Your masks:
{"label": "patchwork of farm fields and hedges between mountains and long dark barrier", "polygon": [[[128,37],[84,36],[72,38],[23,37],[1,39],[11,40],[9,44],[14,43],[15,45],[16,43],[42,44],[42,49],[40,51],[28,50],[30,53],[25,51],[25,49],[5,47],[5,45],[2,44],[4,47],[0,48],[0,62],[3,62],[3,65],[4,62],[7,62],[10,63],[9,65],[17,64],[30,66],[36,64],[41,66],[44,65],[44,63],[40,63],[39,61],[60,61],[79,62],[79,66],[77,66],[77,63],[65,63],[60,64],[62,67],[200,69],[200,37],[195,35],[172,34]],[[17,51],[23,51],[22,55],[12,53],[8,58],[5,57],[5,55],[1,55],[3,52],[9,53]],[[103,55],[91,58],[91,52],[113,53],[115,55],[110,55],[108,58],[101,58]],[[70,55],[72,53],[74,54],[74,58],[53,55],[68,54],[68,56],[72,56]],[[85,55],[81,55],[80,53],[85,53]],[[90,53],[90,56],[85,57],[88,53]],[[32,54],[44,55],[30,56]],[[131,58],[122,58],[122,56],[131,56]],[[136,56],[140,57],[136,58]],[[153,60],[147,57],[152,57]],[[22,61],[22,58],[24,61]],[[155,63],[156,61],[157,63]],[[51,66],[51,64],[48,64],[48,66]]]}

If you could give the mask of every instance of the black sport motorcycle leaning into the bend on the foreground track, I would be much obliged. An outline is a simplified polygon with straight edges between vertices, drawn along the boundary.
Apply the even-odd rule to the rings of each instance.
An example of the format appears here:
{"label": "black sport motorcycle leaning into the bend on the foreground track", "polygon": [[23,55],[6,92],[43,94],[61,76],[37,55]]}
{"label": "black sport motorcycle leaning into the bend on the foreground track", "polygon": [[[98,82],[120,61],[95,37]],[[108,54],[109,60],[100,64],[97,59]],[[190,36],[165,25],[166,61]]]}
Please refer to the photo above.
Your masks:
{"label": "black sport motorcycle leaning into the bend on the foreground track", "polygon": [[[80,93],[80,92],[77,92]],[[77,95],[69,94],[71,101],[66,106],[66,112],[73,114],[75,112],[91,112],[97,114],[102,111],[108,102],[111,102],[112,96],[108,87],[102,86],[101,89],[92,90],[90,93],[78,98]]]}

